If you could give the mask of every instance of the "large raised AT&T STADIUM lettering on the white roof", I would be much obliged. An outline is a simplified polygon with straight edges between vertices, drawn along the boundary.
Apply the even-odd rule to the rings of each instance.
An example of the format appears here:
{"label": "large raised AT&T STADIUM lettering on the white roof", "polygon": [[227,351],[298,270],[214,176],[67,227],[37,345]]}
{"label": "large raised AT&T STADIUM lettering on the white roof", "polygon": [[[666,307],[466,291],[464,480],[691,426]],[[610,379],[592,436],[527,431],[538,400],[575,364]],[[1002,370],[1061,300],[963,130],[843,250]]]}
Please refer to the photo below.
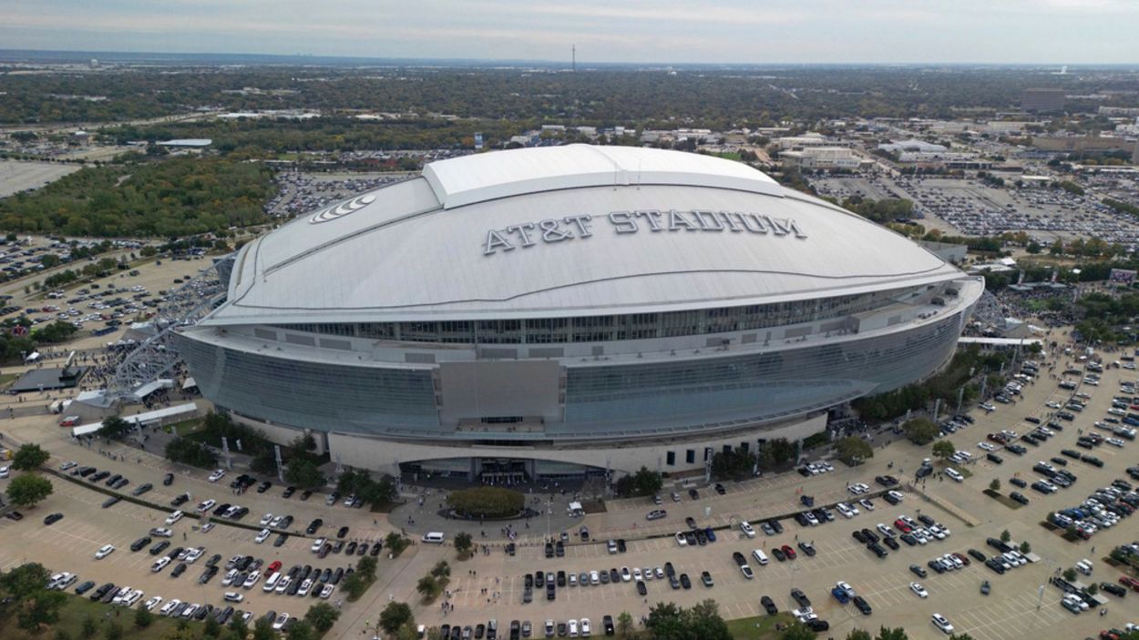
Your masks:
{"label": "large raised AT&T STADIUM lettering on the white roof", "polygon": [[[595,225],[595,222],[597,224]],[[614,233],[650,233],[661,231],[710,231],[729,233],[755,233],[759,236],[794,236],[806,238],[793,219],[771,218],[759,213],[734,211],[614,211],[604,216],[590,214],[550,218],[538,222],[511,224],[505,229],[486,231],[483,255],[530,248],[538,244],[563,243],[587,239],[593,236],[596,227],[608,227]]]}

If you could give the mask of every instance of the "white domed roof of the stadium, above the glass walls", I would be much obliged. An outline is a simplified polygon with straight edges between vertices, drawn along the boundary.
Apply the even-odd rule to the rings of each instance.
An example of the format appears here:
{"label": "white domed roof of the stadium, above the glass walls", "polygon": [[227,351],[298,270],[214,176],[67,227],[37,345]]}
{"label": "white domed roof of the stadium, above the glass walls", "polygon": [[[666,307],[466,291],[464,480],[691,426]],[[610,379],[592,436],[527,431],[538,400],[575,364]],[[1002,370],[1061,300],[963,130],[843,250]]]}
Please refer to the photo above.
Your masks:
{"label": "white domed roof of the stadium, above the glass walls", "polygon": [[[631,166],[647,167],[641,181],[632,179]],[[667,221],[671,211],[689,223],[700,214],[707,224],[670,230],[662,222],[654,231],[649,218],[637,216],[655,212]],[[638,230],[618,232],[611,212],[636,221]],[[764,221],[765,232],[722,224],[724,216],[748,214]],[[590,216],[584,233],[565,221],[580,215]],[[543,241],[543,220],[557,225],[555,238],[570,236]],[[794,230],[777,232],[777,223]],[[533,224],[530,246],[507,230],[518,224]],[[511,248],[487,252],[491,231],[509,238]],[[600,315],[764,304],[960,277],[904,237],[785,190],[745,164],[568,146],[443,161],[423,178],[302,216],[241,249],[228,302],[204,323]]]}

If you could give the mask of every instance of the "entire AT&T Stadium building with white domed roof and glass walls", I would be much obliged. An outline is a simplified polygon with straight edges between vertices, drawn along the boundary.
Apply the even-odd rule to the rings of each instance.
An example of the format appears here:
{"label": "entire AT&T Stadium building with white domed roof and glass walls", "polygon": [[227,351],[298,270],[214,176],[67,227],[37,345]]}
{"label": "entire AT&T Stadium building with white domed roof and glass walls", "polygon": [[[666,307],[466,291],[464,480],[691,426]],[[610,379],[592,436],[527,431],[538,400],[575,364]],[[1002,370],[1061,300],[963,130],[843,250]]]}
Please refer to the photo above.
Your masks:
{"label": "entire AT&T Stadium building with white domed roof and glass walls", "polygon": [[712,156],[428,164],[244,246],[174,344],[202,393],[342,465],[489,482],[704,469],[948,362],[983,293]]}

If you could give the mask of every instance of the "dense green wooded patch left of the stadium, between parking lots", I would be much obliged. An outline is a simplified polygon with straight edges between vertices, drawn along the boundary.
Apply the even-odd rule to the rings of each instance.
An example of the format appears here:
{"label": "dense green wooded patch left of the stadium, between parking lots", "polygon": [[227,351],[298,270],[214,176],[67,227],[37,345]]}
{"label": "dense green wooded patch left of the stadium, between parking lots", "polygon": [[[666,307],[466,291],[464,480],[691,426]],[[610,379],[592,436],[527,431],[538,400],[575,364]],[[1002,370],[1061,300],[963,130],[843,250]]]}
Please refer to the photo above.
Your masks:
{"label": "dense green wooded patch left of the stadium, between parking lots", "polygon": [[85,167],[0,200],[0,229],[99,237],[180,237],[265,221],[272,170],[216,157]]}

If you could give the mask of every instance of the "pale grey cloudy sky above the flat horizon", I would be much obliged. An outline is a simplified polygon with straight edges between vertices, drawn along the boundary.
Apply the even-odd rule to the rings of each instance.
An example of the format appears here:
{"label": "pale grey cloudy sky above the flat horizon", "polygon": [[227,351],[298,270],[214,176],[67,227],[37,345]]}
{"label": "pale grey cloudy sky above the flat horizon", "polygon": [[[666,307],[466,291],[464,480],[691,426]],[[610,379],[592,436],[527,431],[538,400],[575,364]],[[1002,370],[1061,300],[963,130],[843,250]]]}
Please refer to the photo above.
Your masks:
{"label": "pale grey cloudy sky above the flat horizon", "polygon": [[1139,0],[2,0],[0,47],[579,63],[1139,63]]}

